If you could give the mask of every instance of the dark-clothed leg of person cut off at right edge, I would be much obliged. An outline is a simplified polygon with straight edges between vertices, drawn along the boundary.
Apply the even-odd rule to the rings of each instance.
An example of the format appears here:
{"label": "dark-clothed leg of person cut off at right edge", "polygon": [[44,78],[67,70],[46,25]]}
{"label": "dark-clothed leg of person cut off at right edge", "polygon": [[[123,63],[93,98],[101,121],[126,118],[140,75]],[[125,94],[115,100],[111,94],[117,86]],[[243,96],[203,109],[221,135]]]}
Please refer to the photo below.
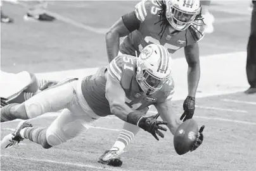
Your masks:
{"label": "dark-clothed leg of person cut off at right edge", "polygon": [[252,1],[251,32],[247,45],[246,74],[250,88],[245,93],[256,93],[256,1]]}

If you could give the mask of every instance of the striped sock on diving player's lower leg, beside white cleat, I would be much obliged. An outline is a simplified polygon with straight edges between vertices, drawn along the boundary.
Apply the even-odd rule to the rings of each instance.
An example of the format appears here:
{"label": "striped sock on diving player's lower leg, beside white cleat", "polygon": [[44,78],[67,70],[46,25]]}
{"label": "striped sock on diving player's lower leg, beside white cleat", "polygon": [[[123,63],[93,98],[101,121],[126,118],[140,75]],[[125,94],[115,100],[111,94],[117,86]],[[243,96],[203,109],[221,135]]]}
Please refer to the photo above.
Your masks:
{"label": "striped sock on diving player's lower leg, beside white cleat", "polygon": [[34,143],[41,144],[43,148],[51,148],[46,140],[46,130],[47,128],[42,127],[25,127],[20,131],[20,136]]}

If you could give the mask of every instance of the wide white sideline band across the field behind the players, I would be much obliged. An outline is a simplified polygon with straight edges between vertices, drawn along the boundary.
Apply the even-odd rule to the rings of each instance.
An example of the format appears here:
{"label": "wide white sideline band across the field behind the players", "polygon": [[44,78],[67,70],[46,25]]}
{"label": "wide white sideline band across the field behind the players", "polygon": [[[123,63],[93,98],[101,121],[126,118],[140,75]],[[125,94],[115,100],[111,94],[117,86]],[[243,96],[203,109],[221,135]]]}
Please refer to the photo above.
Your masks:
{"label": "wide white sideline band across the field behind the players", "polygon": [[[246,52],[202,56],[200,63],[201,78],[196,98],[224,95],[243,91],[248,88],[245,72]],[[230,65],[231,63],[232,65]],[[39,78],[49,80],[63,80],[68,77],[83,78],[84,76],[96,73],[97,69],[98,68],[73,69],[50,73],[37,73],[36,75]],[[184,100],[188,95],[188,64],[186,63],[186,59],[173,59],[172,70],[176,89],[173,100]]]}

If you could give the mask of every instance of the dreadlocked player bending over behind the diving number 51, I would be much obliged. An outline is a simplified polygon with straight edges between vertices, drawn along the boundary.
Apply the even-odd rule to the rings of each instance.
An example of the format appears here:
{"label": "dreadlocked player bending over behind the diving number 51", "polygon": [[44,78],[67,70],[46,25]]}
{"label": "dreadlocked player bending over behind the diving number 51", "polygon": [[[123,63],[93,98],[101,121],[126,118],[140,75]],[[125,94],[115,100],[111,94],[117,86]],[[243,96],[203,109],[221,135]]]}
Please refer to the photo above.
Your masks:
{"label": "dreadlocked player bending over behind the diving number 51", "polygon": [[[195,112],[196,89],[200,80],[198,42],[204,37],[205,30],[201,11],[200,0],[143,0],[136,4],[134,11],[114,23],[105,36],[109,61],[117,54],[135,56],[149,44],[163,45],[170,54],[184,47],[188,62],[188,97],[183,103],[182,121],[191,119]],[[119,46],[120,37],[125,38]],[[138,127],[125,122],[115,144],[99,157],[98,162],[122,165],[117,156],[138,131]]]}

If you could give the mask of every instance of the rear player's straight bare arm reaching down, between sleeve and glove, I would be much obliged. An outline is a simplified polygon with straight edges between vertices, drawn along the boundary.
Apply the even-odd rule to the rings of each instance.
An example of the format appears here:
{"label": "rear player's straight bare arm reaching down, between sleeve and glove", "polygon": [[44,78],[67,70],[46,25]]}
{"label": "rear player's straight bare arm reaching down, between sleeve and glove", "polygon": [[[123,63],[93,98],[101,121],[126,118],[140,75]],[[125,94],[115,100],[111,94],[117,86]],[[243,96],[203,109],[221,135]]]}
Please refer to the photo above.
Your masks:
{"label": "rear player's straight bare arm reaching down, between sleeve and glove", "polygon": [[184,47],[186,61],[188,62],[188,96],[195,97],[198,82],[200,80],[199,45],[195,44]]}

